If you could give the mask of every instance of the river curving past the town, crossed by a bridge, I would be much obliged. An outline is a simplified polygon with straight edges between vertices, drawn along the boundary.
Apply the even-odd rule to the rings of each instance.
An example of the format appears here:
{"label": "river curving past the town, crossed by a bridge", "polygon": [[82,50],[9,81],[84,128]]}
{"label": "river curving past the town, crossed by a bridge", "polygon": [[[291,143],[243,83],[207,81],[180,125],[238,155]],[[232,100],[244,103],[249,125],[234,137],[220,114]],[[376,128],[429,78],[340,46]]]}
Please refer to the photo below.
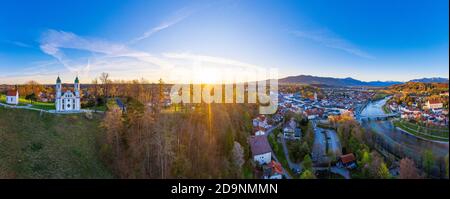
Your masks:
{"label": "river curving past the town, crossed by a bridge", "polygon": [[[383,105],[389,97],[369,103],[361,112],[361,116],[375,116],[385,114]],[[404,155],[408,157],[420,158],[424,149],[430,149],[436,157],[443,157],[449,152],[449,144],[444,142],[432,142],[417,138],[394,127],[390,120],[386,121],[364,121],[362,126],[371,129],[373,132],[384,138],[387,147],[391,149],[401,148]],[[399,154],[396,154],[399,155]],[[402,156],[402,155],[400,155]]]}

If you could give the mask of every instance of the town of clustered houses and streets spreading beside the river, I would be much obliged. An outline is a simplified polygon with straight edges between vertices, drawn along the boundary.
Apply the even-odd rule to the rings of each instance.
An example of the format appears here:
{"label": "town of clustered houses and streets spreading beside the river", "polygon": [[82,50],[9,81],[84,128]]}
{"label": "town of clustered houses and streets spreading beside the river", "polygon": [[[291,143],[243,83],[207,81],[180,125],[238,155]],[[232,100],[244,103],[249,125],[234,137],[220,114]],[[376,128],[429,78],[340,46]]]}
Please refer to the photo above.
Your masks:
{"label": "town of clustered houses and streets spreading beside the river", "polygon": [[[281,88],[282,91],[288,92],[279,94],[279,109],[276,114],[270,117],[260,115],[252,122],[254,136],[250,139],[250,144],[254,161],[263,165],[261,167],[262,178],[281,179],[295,176],[315,178],[314,173],[319,174],[323,170],[337,175],[338,178],[351,178],[351,172],[355,172],[358,162],[361,162],[356,158],[360,154],[343,154],[343,152],[345,153],[345,148],[341,146],[342,140],[339,140],[342,139],[342,136],[337,135],[336,128],[330,129],[331,124],[335,123],[336,119],[343,117],[363,124],[370,122],[367,120],[371,119],[374,121],[386,120],[392,115],[395,118],[393,123],[397,127],[401,127],[401,130],[406,133],[413,131],[415,136],[419,136],[422,139],[432,137],[435,138],[432,139],[433,141],[448,142],[448,91],[442,91],[439,93],[440,98],[435,98],[434,100],[425,100],[429,95],[414,98],[416,101],[409,103],[408,106],[407,103],[395,103],[394,99],[399,94],[395,94],[392,97],[380,89],[323,88],[312,89],[311,91],[311,87],[303,87],[301,90],[292,89],[291,87],[292,85],[288,85]],[[292,92],[293,90],[295,92]],[[309,91],[304,92],[305,90]],[[302,95],[302,93],[307,95]],[[369,103],[380,100],[385,102],[382,104],[382,109],[380,108],[379,112],[371,117],[364,116],[365,113],[362,113],[363,109]],[[417,104],[420,104],[422,108],[419,109]],[[382,112],[380,113],[380,111]],[[291,147],[286,147],[287,142],[301,143],[302,139],[308,139],[306,136],[302,136],[301,121],[296,121],[296,118],[292,117],[293,114],[298,115],[299,117],[297,118],[303,118],[300,119],[303,120],[303,123],[305,123],[304,120],[309,120],[313,126],[315,136],[314,144],[310,147],[312,157],[304,157],[301,163],[298,161],[295,163],[295,161],[291,160],[293,158],[292,153],[296,153],[296,151],[292,150]],[[416,126],[412,127],[398,125],[409,123],[408,121],[411,119],[417,119],[420,121],[420,124],[417,123]],[[432,128],[433,126],[434,128]],[[432,130],[427,130],[426,134],[422,132],[416,133],[416,130],[430,128]],[[280,133],[273,133],[277,131]],[[272,138],[276,139],[276,141],[270,140],[270,134],[276,134]],[[268,136],[269,139],[267,138]],[[279,144],[281,144],[281,147],[278,146]],[[279,150],[283,152],[278,152]],[[304,154],[308,156],[307,153]],[[282,161],[279,159],[282,159]],[[323,169],[324,164],[328,167],[327,169]],[[398,177],[399,175],[399,165],[395,166],[395,164],[397,163],[387,168],[391,177]],[[305,165],[307,165],[306,168]],[[309,170],[305,172],[301,170],[302,168],[303,170]],[[298,175],[300,173],[302,175]]]}

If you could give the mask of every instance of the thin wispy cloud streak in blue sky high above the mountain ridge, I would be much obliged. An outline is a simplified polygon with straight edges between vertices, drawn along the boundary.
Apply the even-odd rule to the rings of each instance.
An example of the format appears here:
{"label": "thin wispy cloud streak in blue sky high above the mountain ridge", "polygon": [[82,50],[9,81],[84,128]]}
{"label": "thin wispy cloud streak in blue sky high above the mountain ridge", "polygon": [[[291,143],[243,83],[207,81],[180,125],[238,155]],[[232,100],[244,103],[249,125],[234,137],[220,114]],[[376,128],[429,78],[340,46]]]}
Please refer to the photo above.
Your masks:
{"label": "thin wispy cloud streak in blue sky high above the mountain ridge", "polygon": [[352,44],[350,41],[339,37],[327,29],[321,30],[297,30],[292,32],[295,36],[308,39],[323,46],[345,51],[349,54],[366,58],[375,59],[375,57]]}

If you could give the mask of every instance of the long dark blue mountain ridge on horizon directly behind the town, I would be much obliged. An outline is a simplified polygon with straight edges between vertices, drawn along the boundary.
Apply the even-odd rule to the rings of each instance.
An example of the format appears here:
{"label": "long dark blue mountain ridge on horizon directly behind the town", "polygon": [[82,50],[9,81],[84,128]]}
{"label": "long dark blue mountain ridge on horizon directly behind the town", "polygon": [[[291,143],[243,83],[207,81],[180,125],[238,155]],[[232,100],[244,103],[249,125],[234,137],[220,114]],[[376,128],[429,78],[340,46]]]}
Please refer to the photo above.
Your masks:
{"label": "long dark blue mountain ridge on horizon directly behind the town", "polygon": [[317,84],[317,85],[329,85],[329,86],[340,86],[340,87],[353,87],[353,86],[374,86],[374,87],[385,87],[394,84],[401,84],[403,82],[396,81],[372,81],[364,82],[353,78],[333,78],[333,77],[316,77],[311,75],[299,75],[290,76],[286,78],[279,79],[279,83],[297,83],[297,84]]}

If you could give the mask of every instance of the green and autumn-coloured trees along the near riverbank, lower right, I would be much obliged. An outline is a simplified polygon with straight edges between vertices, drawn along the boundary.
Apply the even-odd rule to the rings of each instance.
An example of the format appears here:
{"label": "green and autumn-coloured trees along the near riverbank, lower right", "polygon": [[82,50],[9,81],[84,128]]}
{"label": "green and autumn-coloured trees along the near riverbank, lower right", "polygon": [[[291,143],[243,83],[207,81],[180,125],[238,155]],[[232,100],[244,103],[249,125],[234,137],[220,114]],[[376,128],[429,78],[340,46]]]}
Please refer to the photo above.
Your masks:
{"label": "green and autumn-coloured trees along the near riverbank, lower right", "polygon": [[[404,154],[402,146],[391,147],[385,138],[371,130],[361,127],[355,120],[341,119],[333,121],[342,145],[342,153],[354,153],[358,168],[352,172],[352,178],[390,179],[389,168],[398,167],[400,179],[419,179],[439,176],[448,178],[448,155],[437,158],[425,149],[422,154],[412,158]],[[396,157],[394,154],[402,154]],[[398,161],[400,159],[400,161]],[[438,167],[436,173],[435,168]]]}

